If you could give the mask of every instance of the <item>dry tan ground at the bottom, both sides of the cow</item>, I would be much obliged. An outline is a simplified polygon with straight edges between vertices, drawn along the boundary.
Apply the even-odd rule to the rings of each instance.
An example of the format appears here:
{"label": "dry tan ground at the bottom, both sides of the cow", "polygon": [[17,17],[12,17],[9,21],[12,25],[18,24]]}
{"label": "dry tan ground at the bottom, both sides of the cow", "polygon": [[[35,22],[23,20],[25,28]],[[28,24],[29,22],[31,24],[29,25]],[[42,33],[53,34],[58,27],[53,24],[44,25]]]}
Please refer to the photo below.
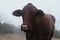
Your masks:
{"label": "dry tan ground at the bottom, both sides of the cow", "polygon": [[[24,34],[0,34],[0,40],[26,40]],[[60,40],[52,38],[52,40]]]}

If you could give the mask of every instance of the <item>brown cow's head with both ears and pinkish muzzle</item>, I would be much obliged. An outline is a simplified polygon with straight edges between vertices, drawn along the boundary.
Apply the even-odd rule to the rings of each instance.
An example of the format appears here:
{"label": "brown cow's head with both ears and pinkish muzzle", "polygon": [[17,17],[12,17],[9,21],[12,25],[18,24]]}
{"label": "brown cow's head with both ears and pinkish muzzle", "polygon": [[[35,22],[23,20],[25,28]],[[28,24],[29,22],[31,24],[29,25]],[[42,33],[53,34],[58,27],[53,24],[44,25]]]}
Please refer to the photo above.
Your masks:
{"label": "brown cow's head with both ears and pinkish muzzle", "polygon": [[18,17],[22,16],[23,18],[23,24],[21,25],[22,30],[27,31],[31,29],[35,17],[43,16],[44,12],[42,10],[38,10],[35,6],[29,3],[26,6],[24,6],[22,10],[15,10],[13,12],[13,15]]}

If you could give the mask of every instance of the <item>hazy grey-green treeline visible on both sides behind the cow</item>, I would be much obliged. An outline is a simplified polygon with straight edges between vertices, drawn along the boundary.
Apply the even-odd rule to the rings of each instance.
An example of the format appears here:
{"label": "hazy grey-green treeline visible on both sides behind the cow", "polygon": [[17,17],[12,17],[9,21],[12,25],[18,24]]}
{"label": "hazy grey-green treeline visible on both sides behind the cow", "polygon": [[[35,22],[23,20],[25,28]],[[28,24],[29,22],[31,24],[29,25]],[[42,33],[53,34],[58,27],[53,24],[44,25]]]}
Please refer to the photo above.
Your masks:
{"label": "hazy grey-green treeline visible on both sides behind the cow", "polygon": [[[14,25],[0,23],[0,34],[20,34],[20,33],[24,34],[24,32],[21,32],[20,27],[17,28]],[[60,38],[60,30],[55,30],[54,37]]]}

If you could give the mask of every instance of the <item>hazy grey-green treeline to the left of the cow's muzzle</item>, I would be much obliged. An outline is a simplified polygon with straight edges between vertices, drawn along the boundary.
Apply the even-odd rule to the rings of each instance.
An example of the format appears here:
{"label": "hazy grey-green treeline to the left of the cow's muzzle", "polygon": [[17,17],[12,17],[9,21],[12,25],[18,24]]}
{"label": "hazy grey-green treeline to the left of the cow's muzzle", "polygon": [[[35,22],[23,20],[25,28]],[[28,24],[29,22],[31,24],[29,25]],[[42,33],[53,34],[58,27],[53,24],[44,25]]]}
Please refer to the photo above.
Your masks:
{"label": "hazy grey-green treeline to the left of the cow's muzzle", "polygon": [[0,34],[13,34],[13,33],[15,34],[20,33],[20,28],[16,28],[15,26],[10,24],[0,23]]}

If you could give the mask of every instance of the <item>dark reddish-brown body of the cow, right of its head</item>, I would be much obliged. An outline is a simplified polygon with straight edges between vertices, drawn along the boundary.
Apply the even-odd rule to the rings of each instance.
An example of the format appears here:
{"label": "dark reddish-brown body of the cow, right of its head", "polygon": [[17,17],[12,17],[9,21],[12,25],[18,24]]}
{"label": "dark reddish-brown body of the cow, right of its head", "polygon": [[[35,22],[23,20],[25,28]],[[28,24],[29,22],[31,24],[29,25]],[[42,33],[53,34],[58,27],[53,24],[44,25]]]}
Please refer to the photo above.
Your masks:
{"label": "dark reddish-brown body of the cow, right of its head", "polygon": [[54,20],[50,14],[36,17],[34,27],[37,40],[48,40],[54,31]]}

